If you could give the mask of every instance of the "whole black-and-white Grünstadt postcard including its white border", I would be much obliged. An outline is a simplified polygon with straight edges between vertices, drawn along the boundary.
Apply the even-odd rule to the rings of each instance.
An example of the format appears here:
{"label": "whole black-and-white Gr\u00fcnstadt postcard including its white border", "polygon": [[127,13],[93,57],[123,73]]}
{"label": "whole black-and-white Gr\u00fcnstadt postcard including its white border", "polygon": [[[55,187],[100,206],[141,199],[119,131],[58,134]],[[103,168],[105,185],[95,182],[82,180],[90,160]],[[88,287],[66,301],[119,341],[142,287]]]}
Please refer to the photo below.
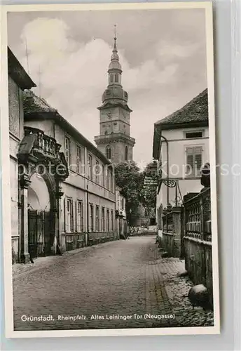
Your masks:
{"label": "whole black-and-white Gr\u00fcnstadt postcard including its white border", "polygon": [[6,336],[219,333],[212,3],[1,25]]}

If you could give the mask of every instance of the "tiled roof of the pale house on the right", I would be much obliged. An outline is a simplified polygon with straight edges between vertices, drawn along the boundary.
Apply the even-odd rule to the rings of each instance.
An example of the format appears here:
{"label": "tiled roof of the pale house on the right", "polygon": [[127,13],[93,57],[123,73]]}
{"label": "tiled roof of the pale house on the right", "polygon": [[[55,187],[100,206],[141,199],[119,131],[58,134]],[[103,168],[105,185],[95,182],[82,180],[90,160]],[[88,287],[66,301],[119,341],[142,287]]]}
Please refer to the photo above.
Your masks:
{"label": "tiled roof of the pale house on the right", "polygon": [[153,158],[158,159],[161,132],[163,130],[195,128],[199,126],[208,126],[207,88],[184,107],[154,124]]}

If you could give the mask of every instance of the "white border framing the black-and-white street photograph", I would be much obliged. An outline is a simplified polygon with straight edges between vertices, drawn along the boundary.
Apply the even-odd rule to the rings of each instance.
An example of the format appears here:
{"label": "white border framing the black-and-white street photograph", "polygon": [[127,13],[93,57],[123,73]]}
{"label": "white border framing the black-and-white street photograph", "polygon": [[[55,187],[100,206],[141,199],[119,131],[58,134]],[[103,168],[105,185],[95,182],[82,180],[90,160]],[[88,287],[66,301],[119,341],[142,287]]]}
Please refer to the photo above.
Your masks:
{"label": "white border framing the black-and-white street photograph", "polygon": [[[88,329],[53,331],[14,331],[13,330],[13,286],[11,262],[11,206],[10,206],[10,162],[8,138],[8,69],[7,69],[7,13],[28,11],[109,11],[144,10],[174,8],[205,8],[206,47],[207,47],[207,88],[209,100],[209,155],[211,165],[211,206],[212,206],[212,267],[214,293],[214,326],[146,328],[146,329]],[[184,334],[219,334],[219,256],[216,214],[216,143],[214,113],[214,51],[212,2],[172,2],[172,3],[125,3],[125,4],[27,4],[1,6],[1,179],[2,179],[2,216],[4,232],[4,288],[5,288],[5,331],[6,338],[43,338],[68,336],[151,336]],[[4,170],[4,171],[3,171]],[[9,199],[9,201],[7,201]]]}

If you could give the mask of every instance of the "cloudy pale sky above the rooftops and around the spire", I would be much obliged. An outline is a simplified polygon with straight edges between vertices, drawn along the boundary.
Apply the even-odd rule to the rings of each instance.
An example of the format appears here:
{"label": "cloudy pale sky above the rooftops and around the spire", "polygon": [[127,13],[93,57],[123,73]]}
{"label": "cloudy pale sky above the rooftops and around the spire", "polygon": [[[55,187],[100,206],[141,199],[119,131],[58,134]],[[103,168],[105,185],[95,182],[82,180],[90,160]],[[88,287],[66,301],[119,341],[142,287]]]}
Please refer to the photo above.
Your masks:
{"label": "cloudy pale sky above the rooftops and around the spire", "polygon": [[34,92],[95,143],[114,25],[133,110],[133,159],[144,168],[153,124],[207,88],[204,9],[8,13],[8,45]]}

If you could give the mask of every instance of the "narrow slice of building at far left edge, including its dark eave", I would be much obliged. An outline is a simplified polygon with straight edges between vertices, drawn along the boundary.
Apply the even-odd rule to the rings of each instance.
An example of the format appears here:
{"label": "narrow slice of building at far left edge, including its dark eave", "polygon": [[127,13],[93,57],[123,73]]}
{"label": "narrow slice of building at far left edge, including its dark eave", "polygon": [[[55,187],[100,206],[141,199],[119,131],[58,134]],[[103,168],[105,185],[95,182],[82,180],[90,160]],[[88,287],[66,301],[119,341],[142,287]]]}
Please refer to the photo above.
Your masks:
{"label": "narrow slice of building at far left edge, including its dark eave", "polygon": [[8,117],[9,117],[9,155],[11,185],[11,238],[13,263],[20,261],[24,250],[24,232],[22,230],[22,197],[24,187],[18,177],[18,150],[24,137],[23,91],[35,84],[15,55],[8,48]]}

